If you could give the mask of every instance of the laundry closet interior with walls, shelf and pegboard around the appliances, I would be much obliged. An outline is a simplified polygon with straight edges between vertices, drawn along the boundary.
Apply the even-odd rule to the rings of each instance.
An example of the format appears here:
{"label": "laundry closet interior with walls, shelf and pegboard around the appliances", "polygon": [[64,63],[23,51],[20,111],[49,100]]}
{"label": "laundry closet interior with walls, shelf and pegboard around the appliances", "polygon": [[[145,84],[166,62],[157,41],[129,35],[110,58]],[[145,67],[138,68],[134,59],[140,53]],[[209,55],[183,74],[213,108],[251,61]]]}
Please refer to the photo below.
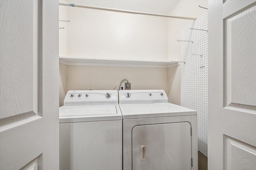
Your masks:
{"label": "laundry closet interior with walls, shelf and pegboard around the appliances", "polygon": [[[60,0],[61,3],[178,16],[168,18],[59,6],[60,104],[69,90],[161,89],[197,111],[198,160],[207,166],[208,1]],[[119,3],[118,3],[119,2]],[[155,3],[156,1],[154,1]],[[130,3],[133,6],[128,5]],[[163,9],[161,9],[161,7]],[[203,7],[203,8],[202,8]],[[146,10],[146,9],[151,10]],[[189,19],[184,19],[189,18]],[[194,20],[193,20],[194,18]]]}

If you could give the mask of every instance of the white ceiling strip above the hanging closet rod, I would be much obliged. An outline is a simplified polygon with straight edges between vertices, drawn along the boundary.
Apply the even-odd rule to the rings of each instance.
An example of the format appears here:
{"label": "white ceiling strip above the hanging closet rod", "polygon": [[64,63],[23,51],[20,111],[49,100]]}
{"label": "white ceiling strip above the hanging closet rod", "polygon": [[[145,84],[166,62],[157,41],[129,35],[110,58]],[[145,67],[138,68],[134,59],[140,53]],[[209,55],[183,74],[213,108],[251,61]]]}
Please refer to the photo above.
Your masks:
{"label": "white ceiling strip above the hanging closet rod", "polygon": [[67,0],[68,3],[168,15],[180,0]]}

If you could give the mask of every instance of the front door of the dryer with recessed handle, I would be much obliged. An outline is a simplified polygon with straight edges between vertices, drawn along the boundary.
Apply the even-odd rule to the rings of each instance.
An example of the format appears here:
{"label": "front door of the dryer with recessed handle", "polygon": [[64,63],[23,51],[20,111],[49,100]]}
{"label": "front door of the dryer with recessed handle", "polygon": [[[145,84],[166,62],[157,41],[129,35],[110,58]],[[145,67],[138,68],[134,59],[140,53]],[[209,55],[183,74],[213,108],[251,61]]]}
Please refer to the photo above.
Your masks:
{"label": "front door of the dryer with recessed handle", "polygon": [[188,122],[138,125],[132,129],[133,170],[191,170]]}

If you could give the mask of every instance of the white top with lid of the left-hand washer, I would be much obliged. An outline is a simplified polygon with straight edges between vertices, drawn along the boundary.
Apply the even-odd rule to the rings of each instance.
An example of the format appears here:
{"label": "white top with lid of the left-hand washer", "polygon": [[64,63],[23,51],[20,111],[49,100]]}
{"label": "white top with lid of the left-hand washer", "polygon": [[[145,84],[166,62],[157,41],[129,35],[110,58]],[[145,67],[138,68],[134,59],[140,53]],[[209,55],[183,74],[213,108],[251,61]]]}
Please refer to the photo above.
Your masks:
{"label": "white top with lid of the left-hand washer", "polygon": [[62,106],[59,114],[60,123],[122,120],[122,113],[116,104]]}

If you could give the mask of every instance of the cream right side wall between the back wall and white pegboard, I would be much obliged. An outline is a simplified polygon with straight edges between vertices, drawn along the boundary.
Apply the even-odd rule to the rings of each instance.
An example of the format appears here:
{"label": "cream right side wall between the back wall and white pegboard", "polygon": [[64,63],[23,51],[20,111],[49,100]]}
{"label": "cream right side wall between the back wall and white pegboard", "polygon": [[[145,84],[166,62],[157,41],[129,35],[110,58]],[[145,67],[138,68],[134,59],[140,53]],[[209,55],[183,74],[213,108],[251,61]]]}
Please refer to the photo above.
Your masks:
{"label": "cream right side wall between the back wall and white pegboard", "polygon": [[[208,8],[208,0],[180,0],[169,15],[198,18],[207,11],[199,5]],[[181,30],[192,22],[192,20],[174,18],[168,20],[168,60],[180,61],[181,42],[177,40],[181,40]],[[168,69],[169,102],[178,105],[180,105],[180,76],[180,66]]]}

